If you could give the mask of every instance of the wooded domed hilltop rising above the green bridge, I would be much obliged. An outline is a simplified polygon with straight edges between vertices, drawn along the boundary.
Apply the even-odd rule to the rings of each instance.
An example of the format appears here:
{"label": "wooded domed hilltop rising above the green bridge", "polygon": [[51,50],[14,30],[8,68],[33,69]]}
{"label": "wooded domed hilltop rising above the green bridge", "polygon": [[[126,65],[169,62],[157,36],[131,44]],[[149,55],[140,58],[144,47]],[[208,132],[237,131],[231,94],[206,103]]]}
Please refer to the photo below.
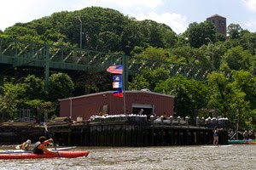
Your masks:
{"label": "wooded domed hilltop rising above the green bridge", "polygon": [[[79,18],[82,22],[80,22]],[[172,48],[177,35],[169,26],[153,20],[137,21],[110,8],[90,7],[59,12],[25,24],[17,23],[3,37],[79,47],[82,24],[83,48],[131,54],[133,48]]]}

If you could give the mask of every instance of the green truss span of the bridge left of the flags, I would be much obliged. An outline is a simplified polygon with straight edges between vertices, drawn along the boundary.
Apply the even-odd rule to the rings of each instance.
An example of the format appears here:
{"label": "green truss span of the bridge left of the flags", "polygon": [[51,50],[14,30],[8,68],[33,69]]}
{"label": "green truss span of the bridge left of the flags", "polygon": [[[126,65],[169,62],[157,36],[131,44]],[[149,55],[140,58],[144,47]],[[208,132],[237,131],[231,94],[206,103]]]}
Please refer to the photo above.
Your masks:
{"label": "green truss span of the bridge left of the flags", "polygon": [[42,67],[49,62],[49,68],[84,70],[96,68],[102,71],[109,65],[121,64],[122,56],[80,48],[49,45],[38,42],[0,37],[0,61],[14,67],[30,65]]}

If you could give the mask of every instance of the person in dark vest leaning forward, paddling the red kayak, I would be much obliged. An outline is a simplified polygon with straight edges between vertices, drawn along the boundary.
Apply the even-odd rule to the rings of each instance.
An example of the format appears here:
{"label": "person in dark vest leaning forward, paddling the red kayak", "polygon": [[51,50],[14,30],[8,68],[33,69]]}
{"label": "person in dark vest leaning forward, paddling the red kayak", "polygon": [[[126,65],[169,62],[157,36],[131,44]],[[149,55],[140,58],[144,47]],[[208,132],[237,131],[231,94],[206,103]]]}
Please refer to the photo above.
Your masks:
{"label": "person in dark vest leaning forward, paddling the red kayak", "polygon": [[39,141],[34,145],[34,154],[56,154],[56,152],[50,151],[46,148],[46,144],[53,142],[53,139],[46,139],[44,136],[39,138]]}

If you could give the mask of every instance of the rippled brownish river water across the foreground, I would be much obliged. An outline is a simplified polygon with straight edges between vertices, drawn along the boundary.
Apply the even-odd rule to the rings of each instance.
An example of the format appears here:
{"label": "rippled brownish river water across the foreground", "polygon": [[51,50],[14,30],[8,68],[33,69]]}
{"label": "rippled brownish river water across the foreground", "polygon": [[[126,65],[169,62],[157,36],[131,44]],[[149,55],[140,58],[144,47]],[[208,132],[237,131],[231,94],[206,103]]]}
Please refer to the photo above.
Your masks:
{"label": "rippled brownish river water across the foreground", "polygon": [[[4,147],[0,147],[3,150]],[[38,160],[0,160],[1,170],[11,169],[256,169],[256,144],[233,144],[231,147],[77,147],[89,150],[87,157]]]}

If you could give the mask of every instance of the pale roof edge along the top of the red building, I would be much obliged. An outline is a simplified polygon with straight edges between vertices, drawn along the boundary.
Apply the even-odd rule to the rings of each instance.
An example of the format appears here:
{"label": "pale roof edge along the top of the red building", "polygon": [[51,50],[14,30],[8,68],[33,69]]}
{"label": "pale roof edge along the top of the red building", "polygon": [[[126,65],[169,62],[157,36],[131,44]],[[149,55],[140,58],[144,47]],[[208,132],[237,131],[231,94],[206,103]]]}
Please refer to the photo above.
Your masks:
{"label": "pale roof edge along the top of the red building", "polygon": [[[76,97],[71,97],[71,98],[66,98],[66,99],[59,99],[59,101],[64,101],[64,100],[69,100],[69,99],[79,99],[79,98],[86,98],[86,97],[91,97],[91,96],[96,96],[96,95],[102,95],[102,94],[113,94],[114,91],[106,91],[106,92],[100,92],[96,94],[86,94],[86,95],[81,95],[81,96],[76,96]],[[169,95],[169,94],[159,94],[155,92],[151,92],[146,89],[142,90],[127,90],[124,91],[125,94],[154,94],[154,95],[160,95],[160,96],[165,96],[169,98],[174,98],[174,95]]]}

